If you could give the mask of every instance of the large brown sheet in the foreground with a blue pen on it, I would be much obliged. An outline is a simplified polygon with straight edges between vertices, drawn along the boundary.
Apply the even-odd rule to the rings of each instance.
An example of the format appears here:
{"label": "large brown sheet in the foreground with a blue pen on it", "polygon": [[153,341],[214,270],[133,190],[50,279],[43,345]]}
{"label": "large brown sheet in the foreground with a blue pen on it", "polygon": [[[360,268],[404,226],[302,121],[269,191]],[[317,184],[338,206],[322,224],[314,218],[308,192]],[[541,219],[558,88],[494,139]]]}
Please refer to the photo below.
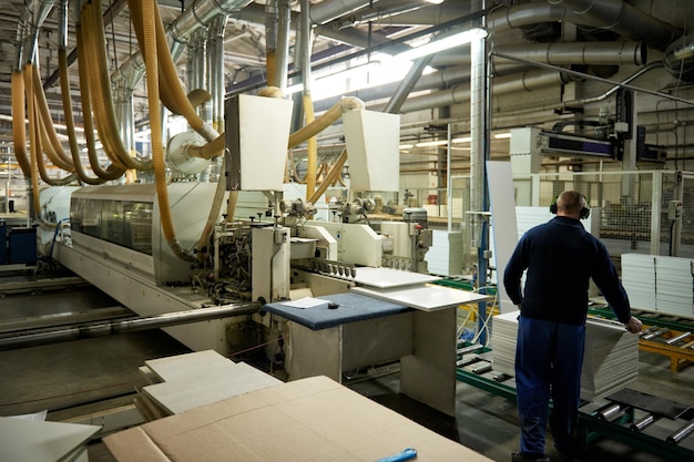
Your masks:
{"label": "large brown sheet in the foreground with a blue pen on it", "polygon": [[104,438],[118,462],[372,462],[490,459],[326,378],[256,390]]}

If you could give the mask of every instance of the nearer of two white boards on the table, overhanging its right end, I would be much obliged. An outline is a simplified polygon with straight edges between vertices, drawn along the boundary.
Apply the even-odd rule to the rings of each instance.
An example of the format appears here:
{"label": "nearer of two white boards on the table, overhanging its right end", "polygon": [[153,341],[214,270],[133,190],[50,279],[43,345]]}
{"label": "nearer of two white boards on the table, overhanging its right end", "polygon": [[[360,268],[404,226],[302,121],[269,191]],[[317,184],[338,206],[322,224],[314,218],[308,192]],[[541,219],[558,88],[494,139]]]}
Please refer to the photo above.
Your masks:
{"label": "nearer of two white boards on the table, overhanging its right end", "polygon": [[353,287],[351,291],[380,300],[401,304],[420,311],[436,311],[458,307],[460,305],[477,304],[493,298],[488,295],[442,286],[402,287],[386,290],[368,287]]}

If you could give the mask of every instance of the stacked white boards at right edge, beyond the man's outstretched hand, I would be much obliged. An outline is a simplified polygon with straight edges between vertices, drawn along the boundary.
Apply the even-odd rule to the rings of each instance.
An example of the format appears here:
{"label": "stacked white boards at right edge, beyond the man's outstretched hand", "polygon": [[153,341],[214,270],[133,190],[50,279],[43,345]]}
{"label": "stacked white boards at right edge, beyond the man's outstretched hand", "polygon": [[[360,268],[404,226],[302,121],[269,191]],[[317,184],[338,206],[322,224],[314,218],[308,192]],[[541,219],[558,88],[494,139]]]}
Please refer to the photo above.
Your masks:
{"label": "stacked white boards at right edge, beyond the man's outstretched hand", "polygon": [[694,316],[694,260],[661,255],[622,254],[622,283],[633,307],[674,316]]}

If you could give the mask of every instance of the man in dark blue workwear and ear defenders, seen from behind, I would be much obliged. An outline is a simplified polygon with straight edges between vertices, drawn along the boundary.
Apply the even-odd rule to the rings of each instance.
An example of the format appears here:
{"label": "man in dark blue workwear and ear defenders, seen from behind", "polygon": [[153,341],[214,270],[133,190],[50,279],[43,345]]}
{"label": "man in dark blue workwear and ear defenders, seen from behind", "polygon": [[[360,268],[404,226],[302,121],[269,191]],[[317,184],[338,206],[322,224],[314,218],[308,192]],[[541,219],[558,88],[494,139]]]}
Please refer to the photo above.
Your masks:
{"label": "man in dark blue workwear and ear defenders, seen from behind", "polygon": [[557,216],[520,238],[503,275],[506,290],[520,309],[516,384],[521,435],[513,462],[549,462],[550,398],[554,446],[562,453],[575,450],[572,435],[581,394],[590,279],[627,331],[636,333],[642,328],[631,316],[629,297],[608,249],[581,224],[590,215],[585,196],[565,191],[551,209]]}

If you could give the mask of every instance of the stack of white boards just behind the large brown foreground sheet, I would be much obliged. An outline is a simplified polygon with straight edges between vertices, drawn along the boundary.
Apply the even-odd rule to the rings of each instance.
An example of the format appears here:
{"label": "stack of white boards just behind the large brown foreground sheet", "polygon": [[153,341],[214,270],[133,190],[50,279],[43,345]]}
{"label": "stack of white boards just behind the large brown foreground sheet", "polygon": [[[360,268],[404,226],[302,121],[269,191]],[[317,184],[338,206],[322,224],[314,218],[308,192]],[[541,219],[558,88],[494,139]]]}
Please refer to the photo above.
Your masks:
{"label": "stack of white boards just behind the large brown foreground sheet", "polygon": [[282,383],[213,350],[149,360],[140,371],[152,383],[135,398],[135,407],[146,421]]}

